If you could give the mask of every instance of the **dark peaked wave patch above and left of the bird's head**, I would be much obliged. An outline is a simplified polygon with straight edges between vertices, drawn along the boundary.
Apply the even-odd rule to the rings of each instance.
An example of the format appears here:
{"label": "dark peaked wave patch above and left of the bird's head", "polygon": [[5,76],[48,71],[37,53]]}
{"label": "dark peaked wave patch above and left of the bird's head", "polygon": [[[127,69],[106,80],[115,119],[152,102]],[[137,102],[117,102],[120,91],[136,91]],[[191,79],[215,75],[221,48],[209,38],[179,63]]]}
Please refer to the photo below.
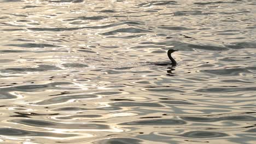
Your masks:
{"label": "dark peaked wave patch above and left of the bird's head", "polygon": [[148,31],[146,29],[141,29],[141,28],[120,28],[116,29],[114,31],[106,32],[106,33],[101,33],[101,35],[114,35],[117,33],[150,33],[152,31]]}

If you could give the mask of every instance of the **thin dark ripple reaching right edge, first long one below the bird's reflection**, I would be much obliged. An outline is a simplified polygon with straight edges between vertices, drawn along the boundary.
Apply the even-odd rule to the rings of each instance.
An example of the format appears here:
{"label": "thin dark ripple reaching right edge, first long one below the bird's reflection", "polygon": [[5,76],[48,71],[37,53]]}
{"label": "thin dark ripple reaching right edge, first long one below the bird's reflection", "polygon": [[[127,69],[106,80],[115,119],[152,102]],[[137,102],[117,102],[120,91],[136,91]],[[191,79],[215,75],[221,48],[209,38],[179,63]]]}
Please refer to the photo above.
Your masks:
{"label": "thin dark ripple reaching right edge, first long one below the bird's reflection", "polygon": [[205,92],[205,93],[229,93],[229,92],[248,92],[248,91],[256,91],[256,87],[214,87],[214,88],[202,88],[196,89],[195,92]]}

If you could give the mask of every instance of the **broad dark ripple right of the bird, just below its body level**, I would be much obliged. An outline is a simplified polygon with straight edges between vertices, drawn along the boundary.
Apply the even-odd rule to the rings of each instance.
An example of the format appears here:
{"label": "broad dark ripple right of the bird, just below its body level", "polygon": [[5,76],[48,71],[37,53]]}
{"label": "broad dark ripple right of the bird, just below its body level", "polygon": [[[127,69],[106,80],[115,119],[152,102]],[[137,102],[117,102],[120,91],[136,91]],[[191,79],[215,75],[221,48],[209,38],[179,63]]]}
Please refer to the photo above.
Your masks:
{"label": "broad dark ripple right of the bird, just below its body level", "polygon": [[223,76],[237,76],[237,75],[240,75],[241,73],[252,73],[246,68],[200,70],[200,72],[213,74],[213,75],[223,75]]}

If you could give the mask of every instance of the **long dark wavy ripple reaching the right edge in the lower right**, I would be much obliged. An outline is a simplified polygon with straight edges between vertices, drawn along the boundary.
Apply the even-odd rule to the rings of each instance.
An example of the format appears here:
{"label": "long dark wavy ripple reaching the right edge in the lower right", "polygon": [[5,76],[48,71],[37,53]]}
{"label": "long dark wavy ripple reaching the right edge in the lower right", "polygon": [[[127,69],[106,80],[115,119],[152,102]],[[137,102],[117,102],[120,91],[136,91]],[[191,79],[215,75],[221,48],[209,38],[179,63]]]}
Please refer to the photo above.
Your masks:
{"label": "long dark wavy ripple reaching the right edge in the lower right", "polygon": [[236,121],[236,122],[255,122],[256,118],[252,116],[226,116],[226,117],[180,117],[184,121],[191,122],[219,122],[219,121]]}

